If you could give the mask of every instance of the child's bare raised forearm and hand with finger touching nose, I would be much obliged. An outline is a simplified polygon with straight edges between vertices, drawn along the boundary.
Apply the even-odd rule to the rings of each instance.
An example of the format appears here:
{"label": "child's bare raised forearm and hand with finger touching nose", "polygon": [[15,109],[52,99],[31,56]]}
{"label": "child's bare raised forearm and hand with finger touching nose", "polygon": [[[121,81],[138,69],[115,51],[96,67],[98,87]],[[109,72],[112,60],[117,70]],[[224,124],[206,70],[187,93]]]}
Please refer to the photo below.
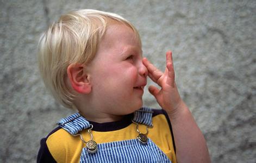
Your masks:
{"label": "child's bare raised forearm and hand with finger touching nose", "polygon": [[143,58],[143,64],[148,69],[148,76],[161,87],[159,90],[155,86],[149,86],[149,92],[169,116],[176,145],[177,162],[210,162],[204,136],[179,96],[174,80],[172,52],[166,52],[164,73],[155,68],[146,58]]}

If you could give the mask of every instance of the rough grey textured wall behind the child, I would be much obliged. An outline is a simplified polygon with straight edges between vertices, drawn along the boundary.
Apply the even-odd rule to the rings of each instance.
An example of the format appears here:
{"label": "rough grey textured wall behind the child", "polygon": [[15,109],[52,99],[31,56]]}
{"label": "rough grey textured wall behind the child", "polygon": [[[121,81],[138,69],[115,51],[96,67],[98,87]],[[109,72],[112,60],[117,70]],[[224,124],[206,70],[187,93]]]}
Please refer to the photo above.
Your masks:
{"label": "rough grey textured wall behind the child", "polygon": [[[255,162],[256,1],[1,1],[0,162],[34,162],[43,136],[71,114],[39,77],[36,45],[61,13],[116,12],[139,29],[161,70],[172,49],[177,85],[213,162]],[[149,84],[151,84],[149,82]],[[147,92],[145,105],[159,108]]]}

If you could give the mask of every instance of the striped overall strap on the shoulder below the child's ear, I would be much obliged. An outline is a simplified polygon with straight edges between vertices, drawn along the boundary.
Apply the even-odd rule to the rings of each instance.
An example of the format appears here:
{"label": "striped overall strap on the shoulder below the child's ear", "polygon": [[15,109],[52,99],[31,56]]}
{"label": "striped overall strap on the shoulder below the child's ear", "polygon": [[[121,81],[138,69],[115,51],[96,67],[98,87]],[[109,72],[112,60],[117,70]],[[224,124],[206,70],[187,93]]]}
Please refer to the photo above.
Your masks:
{"label": "striped overall strap on the shoulder below the child's ear", "polygon": [[79,131],[90,127],[90,123],[78,112],[62,118],[57,124],[72,135],[76,135]]}

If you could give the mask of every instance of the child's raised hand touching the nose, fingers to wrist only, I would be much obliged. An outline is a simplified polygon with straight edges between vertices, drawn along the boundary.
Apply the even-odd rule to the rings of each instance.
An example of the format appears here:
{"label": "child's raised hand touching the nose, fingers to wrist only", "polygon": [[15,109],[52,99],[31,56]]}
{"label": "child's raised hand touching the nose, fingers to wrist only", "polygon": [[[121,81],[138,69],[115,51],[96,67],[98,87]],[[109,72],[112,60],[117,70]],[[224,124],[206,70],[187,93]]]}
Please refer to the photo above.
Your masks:
{"label": "child's raised hand touching the nose, fingers to wrist only", "polygon": [[166,52],[166,68],[164,73],[158,70],[146,58],[143,58],[143,64],[148,69],[148,76],[161,87],[161,90],[159,90],[157,87],[151,85],[148,89],[149,92],[157,99],[159,105],[169,115],[174,114],[183,101],[179,96],[174,80],[172,52]]}

